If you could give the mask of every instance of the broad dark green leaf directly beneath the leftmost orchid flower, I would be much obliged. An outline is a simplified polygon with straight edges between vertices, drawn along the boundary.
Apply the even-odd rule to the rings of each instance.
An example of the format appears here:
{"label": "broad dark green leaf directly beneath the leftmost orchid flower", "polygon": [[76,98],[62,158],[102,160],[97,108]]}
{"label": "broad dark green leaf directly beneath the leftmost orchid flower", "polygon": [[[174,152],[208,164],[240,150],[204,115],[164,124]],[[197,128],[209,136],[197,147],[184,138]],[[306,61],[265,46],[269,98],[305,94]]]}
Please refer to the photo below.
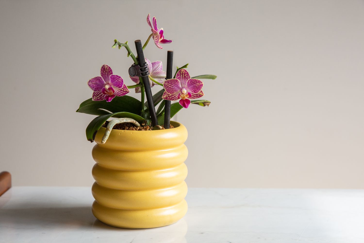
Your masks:
{"label": "broad dark green leaf directly beneath the leftmost orchid flower", "polygon": [[76,110],[76,112],[91,115],[107,115],[121,111],[139,114],[140,101],[128,95],[116,96],[111,102],[92,101],[90,98],[82,102]]}

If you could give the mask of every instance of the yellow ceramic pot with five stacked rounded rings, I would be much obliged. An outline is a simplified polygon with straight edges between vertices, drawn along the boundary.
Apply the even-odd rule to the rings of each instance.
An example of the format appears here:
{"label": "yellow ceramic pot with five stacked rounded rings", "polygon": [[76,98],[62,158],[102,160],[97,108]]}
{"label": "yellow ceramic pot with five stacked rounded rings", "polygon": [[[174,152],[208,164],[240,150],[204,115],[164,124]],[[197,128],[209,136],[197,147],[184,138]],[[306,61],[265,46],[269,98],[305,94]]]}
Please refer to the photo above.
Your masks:
{"label": "yellow ceramic pot with five stacked rounded rings", "polygon": [[100,128],[92,150],[92,213],[97,219],[122,228],[154,228],[186,214],[187,130],[171,124],[175,128],[113,129],[105,144],[105,128]]}

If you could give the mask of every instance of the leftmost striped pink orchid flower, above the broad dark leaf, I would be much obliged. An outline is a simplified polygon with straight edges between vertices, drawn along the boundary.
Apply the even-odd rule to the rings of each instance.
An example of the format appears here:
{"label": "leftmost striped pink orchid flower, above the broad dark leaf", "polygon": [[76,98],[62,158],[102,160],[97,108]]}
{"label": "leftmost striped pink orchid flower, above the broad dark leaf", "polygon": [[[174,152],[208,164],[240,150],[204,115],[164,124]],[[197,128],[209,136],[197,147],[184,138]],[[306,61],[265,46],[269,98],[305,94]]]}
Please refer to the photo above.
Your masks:
{"label": "leftmost striped pink orchid flower, above the broad dark leaf", "polygon": [[124,85],[123,78],[112,74],[111,67],[102,65],[101,77],[91,78],[87,84],[94,93],[92,93],[93,101],[110,102],[115,96],[123,96],[129,93],[128,88]]}

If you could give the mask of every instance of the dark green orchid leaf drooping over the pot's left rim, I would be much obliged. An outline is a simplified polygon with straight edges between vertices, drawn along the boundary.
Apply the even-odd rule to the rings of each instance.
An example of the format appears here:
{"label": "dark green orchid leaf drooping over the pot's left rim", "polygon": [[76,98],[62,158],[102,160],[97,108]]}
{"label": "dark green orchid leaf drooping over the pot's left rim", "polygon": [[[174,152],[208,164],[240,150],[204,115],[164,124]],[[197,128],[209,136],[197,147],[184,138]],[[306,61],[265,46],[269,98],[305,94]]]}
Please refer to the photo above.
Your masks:
{"label": "dark green orchid leaf drooping over the pot's left rim", "polygon": [[100,129],[102,125],[104,125],[106,120],[109,119],[110,117],[132,118],[137,122],[142,122],[145,120],[143,117],[129,112],[115,112],[112,114],[100,115],[95,119],[93,119],[86,128],[86,138],[88,141],[93,142],[95,140],[97,131]]}

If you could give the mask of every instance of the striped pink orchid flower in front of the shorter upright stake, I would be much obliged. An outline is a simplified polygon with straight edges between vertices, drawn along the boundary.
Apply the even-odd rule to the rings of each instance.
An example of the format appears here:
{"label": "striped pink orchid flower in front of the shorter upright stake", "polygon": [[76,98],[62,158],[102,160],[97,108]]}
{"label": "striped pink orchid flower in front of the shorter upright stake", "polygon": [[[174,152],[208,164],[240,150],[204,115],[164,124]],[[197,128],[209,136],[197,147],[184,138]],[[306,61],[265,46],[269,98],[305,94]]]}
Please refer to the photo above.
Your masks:
{"label": "striped pink orchid flower in front of the shorter upright stake", "polygon": [[179,104],[188,108],[191,101],[202,97],[203,82],[198,79],[190,78],[190,74],[186,69],[180,69],[177,72],[176,78],[167,79],[163,83],[165,89],[162,98],[169,101],[179,100]]}

